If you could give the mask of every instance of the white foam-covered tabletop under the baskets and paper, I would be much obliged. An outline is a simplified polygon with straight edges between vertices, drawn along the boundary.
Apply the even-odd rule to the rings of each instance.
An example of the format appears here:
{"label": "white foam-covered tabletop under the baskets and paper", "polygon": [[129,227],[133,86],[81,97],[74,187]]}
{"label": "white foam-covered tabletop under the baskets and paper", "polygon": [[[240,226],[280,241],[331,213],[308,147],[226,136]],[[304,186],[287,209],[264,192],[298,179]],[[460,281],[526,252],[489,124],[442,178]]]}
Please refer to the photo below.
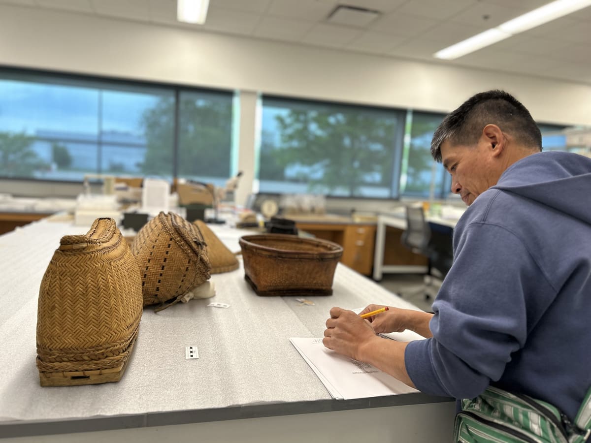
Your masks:
{"label": "white foam-covered tabletop under the baskets and paper", "polygon": [[[212,229],[232,251],[250,233]],[[349,402],[330,397],[289,338],[322,337],[335,305],[415,308],[340,264],[333,295],[308,297],[314,304],[306,305],[293,297],[258,297],[241,262],[236,271],[212,276],[213,298],[158,314],[145,308],[118,383],[40,387],[35,328],[41,278],[61,236],[86,232],[44,219],[0,236],[0,437],[72,432],[80,420],[86,430],[101,421],[95,429],[116,429],[449,400],[423,393]],[[212,301],[230,307],[206,307]],[[199,359],[185,359],[186,346],[197,346]],[[59,430],[52,431],[55,424]]]}

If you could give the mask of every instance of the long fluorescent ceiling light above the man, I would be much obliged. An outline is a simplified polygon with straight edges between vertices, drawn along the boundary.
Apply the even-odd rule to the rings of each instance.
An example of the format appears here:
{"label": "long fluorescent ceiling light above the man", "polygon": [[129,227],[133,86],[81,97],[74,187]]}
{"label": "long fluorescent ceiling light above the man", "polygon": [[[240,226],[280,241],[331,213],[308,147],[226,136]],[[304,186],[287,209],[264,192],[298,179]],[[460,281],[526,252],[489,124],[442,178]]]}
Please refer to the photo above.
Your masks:
{"label": "long fluorescent ceiling light above the man", "polygon": [[571,12],[579,11],[579,9],[586,8],[589,5],[591,5],[591,0],[556,0],[533,11],[519,15],[519,17],[512,18],[498,25],[496,28],[480,32],[480,34],[476,34],[473,37],[444,48],[433,54],[433,57],[454,60],[454,58],[478,51],[480,48],[519,34],[519,32],[543,25],[564,15],[571,14]]}

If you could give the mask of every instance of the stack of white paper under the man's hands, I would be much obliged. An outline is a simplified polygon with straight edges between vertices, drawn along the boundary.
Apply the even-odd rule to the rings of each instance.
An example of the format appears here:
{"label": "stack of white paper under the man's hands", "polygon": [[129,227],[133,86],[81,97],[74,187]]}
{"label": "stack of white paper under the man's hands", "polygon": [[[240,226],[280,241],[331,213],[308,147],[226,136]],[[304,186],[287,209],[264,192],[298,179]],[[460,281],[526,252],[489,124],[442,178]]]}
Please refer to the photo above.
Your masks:
{"label": "stack of white paper under the man's hands", "polygon": [[290,341],[335,399],[418,392],[371,364],[327,349],[322,344],[322,338],[290,338]]}

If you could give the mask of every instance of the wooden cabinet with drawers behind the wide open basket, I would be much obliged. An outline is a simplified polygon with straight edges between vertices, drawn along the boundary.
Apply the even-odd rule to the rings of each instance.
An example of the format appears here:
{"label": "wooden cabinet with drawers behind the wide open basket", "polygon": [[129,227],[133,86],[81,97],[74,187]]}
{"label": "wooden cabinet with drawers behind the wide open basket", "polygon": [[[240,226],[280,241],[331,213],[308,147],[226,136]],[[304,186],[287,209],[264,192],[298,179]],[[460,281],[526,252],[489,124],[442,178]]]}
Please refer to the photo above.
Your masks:
{"label": "wooden cabinet with drawers behind the wide open basket", "polygon": [[375,225],[358,223],[296,222],[298,229],[343,247],[340,261],[363,275],[374,266]]}

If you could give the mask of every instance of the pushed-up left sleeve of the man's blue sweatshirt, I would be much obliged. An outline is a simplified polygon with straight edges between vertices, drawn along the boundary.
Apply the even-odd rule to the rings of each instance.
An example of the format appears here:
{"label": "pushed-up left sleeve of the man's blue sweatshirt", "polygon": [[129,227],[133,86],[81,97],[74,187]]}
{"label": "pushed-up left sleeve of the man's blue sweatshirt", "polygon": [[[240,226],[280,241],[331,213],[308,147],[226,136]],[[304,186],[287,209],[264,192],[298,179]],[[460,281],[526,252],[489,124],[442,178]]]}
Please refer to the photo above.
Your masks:
{"label": "pushed-up left sleeve of the man's blue sweatshirt", "polygon": [[527,292],[548,292],[523,243],[505,227],[472,222],[433,304],[433,338],[405,350],[407,372],[431,395],[473,398],[499,380],[527,338]]}

